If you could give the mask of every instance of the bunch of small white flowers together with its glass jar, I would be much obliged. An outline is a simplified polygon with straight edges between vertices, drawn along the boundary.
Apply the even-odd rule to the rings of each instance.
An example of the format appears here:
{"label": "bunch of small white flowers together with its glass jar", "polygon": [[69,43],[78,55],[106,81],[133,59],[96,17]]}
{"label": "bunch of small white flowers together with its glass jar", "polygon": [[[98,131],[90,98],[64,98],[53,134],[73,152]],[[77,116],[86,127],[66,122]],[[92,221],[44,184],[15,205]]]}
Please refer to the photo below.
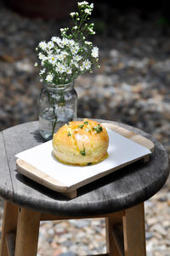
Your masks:
{"label": "bunch of small white flowers together with its glass jar", "polygon": [[[94,3],[77,3],[78,11],[71,13],[72,28],[61,28],[61,37],[42,41],[36,50],[40,66],[40,81],[44,82],[39,103],[39,128],[42,137],[51,139],[65,122],[77,117],[75,79],[85,71],[93,72],[99,60],[99,48],[87,40],[94,35],[94,23],[89,16]],[[99,66],[99,65],[98,65]]]}

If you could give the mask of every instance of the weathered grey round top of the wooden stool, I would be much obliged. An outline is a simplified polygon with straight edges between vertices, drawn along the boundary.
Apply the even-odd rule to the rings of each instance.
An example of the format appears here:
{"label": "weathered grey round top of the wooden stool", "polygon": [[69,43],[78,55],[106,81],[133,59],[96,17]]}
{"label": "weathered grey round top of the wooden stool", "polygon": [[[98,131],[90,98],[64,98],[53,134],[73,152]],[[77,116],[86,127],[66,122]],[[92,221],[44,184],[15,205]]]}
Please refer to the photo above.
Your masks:
{"label": "weathered grey round top of the wooden stool", "polygon": [[167,180],[167,152],[149,134],[122,123],[118,124],[152,140],[155,150],[150,161],[135,162],[84,185],[78,189],[77,197],[73,199],[37,184],[16,170],[14,156],[43,142],[37,130],[38,122],[27,122],[4,130],[0,133],[0,195],[5,200],[35,211],[73,217],[114,213],[144,202],[156,194]]}

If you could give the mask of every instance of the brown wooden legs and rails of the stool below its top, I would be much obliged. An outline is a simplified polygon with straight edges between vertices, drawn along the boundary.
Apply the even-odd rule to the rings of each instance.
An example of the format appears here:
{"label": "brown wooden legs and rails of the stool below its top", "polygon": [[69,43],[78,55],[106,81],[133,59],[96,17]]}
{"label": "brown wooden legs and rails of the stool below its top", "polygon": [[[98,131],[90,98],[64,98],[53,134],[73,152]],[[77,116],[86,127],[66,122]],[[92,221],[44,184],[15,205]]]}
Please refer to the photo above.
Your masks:
{"label": "brown wooden legs and rails of the stool below its top", "polygon": [[[146,255],[143,203],[117,213],[76,217],[76,219],[82,218],[105,218],[106,255]],[[18,207],[11,202],[5,202],[0,255],[36,256],[40,221],[60,219],[73,218],[38,213],[28,208]]]}

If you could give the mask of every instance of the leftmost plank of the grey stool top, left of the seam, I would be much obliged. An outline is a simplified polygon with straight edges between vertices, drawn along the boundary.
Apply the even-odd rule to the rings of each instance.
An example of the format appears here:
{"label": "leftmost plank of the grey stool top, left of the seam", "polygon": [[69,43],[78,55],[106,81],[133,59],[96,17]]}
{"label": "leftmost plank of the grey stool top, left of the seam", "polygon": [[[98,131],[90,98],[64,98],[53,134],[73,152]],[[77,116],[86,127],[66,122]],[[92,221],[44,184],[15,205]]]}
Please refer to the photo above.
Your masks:
{"label": "leftmost plank of the grey stool top, left of the seam", "polygon": [[0,196],[8,200],[13,196],[13,186],[8,168],[3,133],[0,133],[0,152]]}

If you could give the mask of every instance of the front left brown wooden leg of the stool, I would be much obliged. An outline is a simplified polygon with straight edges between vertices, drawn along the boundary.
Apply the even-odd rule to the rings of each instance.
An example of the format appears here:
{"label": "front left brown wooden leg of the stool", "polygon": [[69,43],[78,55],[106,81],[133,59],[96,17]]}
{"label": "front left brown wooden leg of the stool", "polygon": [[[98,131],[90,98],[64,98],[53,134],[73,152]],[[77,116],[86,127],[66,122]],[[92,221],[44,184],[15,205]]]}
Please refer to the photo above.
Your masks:
{"label": "front left brown wooden leg of the stool", "polygon": [[41,213],[20,208],[18,216],[15,256],[36,256]]}

